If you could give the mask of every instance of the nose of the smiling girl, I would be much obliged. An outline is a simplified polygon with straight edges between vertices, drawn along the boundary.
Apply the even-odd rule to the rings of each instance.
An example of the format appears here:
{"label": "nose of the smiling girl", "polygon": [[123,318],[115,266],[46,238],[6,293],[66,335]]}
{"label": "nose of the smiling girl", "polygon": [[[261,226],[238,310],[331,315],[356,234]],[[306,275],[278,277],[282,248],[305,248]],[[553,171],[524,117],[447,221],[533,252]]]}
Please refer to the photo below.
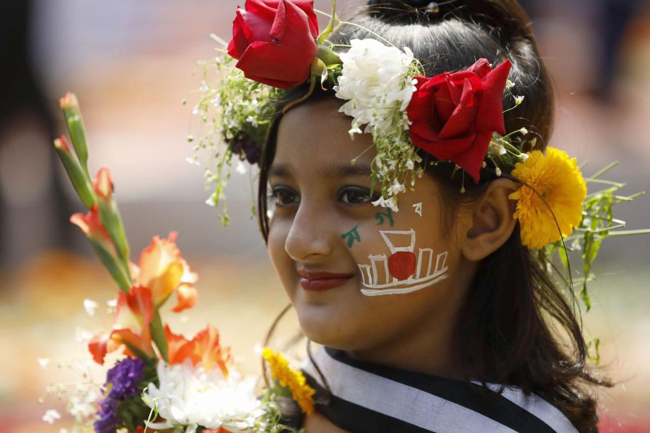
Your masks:
{"label": "nose of the smiling girl", "polygon": [[302,200],[285,240],[285,250],[294,261],[315,261],[333,249],[333,235],[324,217],[324,200]]}

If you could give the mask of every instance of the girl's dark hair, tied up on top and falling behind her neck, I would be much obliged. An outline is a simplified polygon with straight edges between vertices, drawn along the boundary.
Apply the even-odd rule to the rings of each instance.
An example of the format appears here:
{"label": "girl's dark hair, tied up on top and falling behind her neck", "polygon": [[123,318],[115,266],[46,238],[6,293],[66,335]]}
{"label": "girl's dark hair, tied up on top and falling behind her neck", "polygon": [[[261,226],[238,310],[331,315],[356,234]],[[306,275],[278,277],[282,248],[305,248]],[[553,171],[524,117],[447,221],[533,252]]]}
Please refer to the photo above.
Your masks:
{"label": "girl's dark hair, tied up on top and falling behind her neck", "polygon": [[[509,78],[515,86],[504,94],[504,107],[512,105],[513,94],[525,98],[517,109],[504,115],[506,131],[526,127],[538,137],[536,149],[545,148],[554,113],[552,83],[528,18],[516,0],[370,0],[369,7],[348,21],[364,29],[343,26],[330,40],[346,44],[354,38],[380,34],[397,47],[410,47],[428,77],[466,69],[481,58],[494,65],[510,59]],[[294,88],[280,105],[306,91],[305,86]],[[331,90],[317,90],[310,98],[331,94]],[[267,170],[273,161],[280,120],[278,114],[260,163],[258,216],[265,241]],[[421,156],[425,161],[431,159],[425,153]],[[435,167],[426,164],[426,172],[441,187],[446,224],[453,224],[461,207],[476,202],[495,177],[485,168],[478,185],[463,182],[459,174],[450,176],[453,166],[444,163]],[[521,244],[517,224],[510,239],[478,264],[456,326],[456,357],[466,380],[536,393],[562,411],[578,431],[597,431],[596,402],[589,386],[611,384],[588,369],[573,291],[564,293],[556,287],[547,265],[547,257],[541,253],[534,256]]]}

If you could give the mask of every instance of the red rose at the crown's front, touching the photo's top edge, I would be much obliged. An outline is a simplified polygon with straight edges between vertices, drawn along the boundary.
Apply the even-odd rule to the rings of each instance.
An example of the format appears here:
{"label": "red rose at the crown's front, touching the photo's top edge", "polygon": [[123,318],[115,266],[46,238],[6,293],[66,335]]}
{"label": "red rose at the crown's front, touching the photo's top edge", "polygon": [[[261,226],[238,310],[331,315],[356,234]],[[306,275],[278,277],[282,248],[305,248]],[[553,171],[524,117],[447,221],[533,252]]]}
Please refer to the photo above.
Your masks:
{"label": "red rose at the crown's front, touching the photo's top edge", "polygon": [[246,0],[237,7],[228,54],[246,78],[278,88],[309,79],[318,51],[313,0]]}

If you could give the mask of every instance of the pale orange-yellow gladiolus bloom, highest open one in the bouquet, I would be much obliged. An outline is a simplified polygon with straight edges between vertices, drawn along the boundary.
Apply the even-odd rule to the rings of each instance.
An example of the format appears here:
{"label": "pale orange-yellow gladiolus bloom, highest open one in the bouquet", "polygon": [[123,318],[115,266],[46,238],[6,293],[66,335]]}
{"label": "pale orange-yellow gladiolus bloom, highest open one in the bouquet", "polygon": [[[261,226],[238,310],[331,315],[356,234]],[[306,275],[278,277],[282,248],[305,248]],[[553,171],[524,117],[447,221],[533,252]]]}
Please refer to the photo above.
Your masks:
{"label": "pale orange-yellow gladiolus bloom, highest open one in the bouquet", "polygon": [[196,272],[190,270],[175,243],[178,233],[170,231],[167,239],[154,236],[151,245],[142,250],[140,266],[130,263],[131,278],[151,290],[154,308],[159,308],[176,292],[176,313],[196,304],[198,295],[194,283]]}

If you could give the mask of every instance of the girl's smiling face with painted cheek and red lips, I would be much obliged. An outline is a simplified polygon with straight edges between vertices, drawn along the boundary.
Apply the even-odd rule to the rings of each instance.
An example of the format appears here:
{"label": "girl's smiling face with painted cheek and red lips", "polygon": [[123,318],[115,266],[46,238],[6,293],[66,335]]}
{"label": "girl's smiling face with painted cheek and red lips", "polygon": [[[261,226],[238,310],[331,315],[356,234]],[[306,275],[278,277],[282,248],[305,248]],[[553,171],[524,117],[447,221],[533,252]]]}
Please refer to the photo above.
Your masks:
{"label": "girl's smiling face with painted cheek and red lips", "polygon": [[437,185],[426,175],[398,194],[398,212],[372,205],[376,150],[369,134],[350,139],[340,105],[327,98],[292,108],[269,170],[268,252],[300,326],[343,350],[448,330],[471,280],[454,244],[467,226],[460,218],[443,233]]}

